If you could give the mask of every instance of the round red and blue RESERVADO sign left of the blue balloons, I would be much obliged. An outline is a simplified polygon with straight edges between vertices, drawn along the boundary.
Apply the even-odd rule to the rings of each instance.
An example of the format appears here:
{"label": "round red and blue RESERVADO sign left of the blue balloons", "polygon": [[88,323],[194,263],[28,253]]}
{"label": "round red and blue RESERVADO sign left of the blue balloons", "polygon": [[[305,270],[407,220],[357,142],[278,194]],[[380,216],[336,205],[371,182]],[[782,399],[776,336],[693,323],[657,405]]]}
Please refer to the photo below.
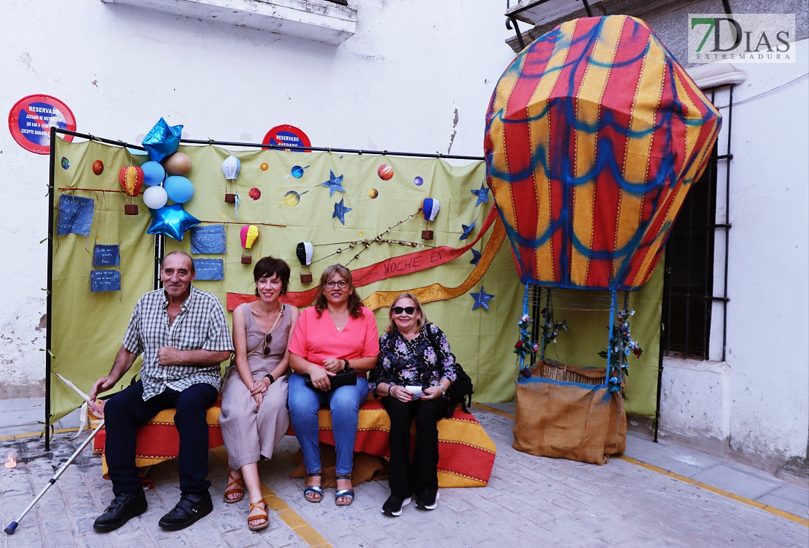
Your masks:
{"label": "round red and blue RESERVADO sign left of the blue balloons", "polygon": [[[8,129],[19,146],[32,153],[50,153],[50,128],[76,131],[70,108],[50,95],[28,95],[14,103],[8,113]],[[62,136],[70,142],[72,135]]]}

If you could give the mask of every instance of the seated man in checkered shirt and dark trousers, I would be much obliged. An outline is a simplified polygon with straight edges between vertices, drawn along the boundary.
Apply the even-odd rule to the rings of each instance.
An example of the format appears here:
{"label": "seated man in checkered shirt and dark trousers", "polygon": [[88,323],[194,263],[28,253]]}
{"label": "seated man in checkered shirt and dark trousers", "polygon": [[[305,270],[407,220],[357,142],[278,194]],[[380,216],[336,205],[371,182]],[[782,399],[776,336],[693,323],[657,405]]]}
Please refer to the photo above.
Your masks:
{"label": "seated man in checkered shirt and dark trousers", "polygon": [[146,495],[135,466],[136,430],[163,409],[176,408],[180,433],[180,502],[163,516],[163,529],[184,529],[214,508],[208,475],[206,412],[218,395],[219,364],[233,350],[222,303],[191,285],[194,262],[173,251],[163,259],[163,289],[143,295],[132,313],[112,371],[98,379],[91,399],[115,386],[143,355],[141,379],[104,406],[106,457],[115,498],[93,529],[112,531],[146,512]]}

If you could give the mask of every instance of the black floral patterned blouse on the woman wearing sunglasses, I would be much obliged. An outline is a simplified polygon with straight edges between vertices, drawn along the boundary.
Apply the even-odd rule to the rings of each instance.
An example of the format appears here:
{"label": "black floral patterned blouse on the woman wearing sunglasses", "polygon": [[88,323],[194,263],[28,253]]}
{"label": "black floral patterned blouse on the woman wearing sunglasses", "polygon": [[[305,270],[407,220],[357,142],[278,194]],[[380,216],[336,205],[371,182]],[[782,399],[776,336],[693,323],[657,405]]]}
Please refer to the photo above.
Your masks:
{"label": "black floral patterned blouse on the woman wearing sunglasses", "polygon": [[[379,337],[379,359],[371,370],[368,389],[374,393],[379,383],[435,387],[444,377],[454,383],[456,371],[447,337],[435,324],[421,326],[413,341],[405,339],[394,326],[390,333]],[[444,398],[448,399],[446,394]]]}

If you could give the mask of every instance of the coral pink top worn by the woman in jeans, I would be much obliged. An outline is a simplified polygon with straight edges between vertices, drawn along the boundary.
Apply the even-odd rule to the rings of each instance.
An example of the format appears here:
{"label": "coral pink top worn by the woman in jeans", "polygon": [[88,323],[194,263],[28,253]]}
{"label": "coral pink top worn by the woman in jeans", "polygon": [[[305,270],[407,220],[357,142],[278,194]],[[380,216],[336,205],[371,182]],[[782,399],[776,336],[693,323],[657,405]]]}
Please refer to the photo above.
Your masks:
{"label": "coral pink top worn by the woman in jeans", "polygon": [[[379,355],[379,330],[374,313],[362,307],[362,317],[349,316],[342,331],[337,331],[328,310],[317,317],[315,307],[301,312],[290,338],[290,352],[323,366],[328,358],[353,360]],[[364,373],[358,373],[365,376]]]}

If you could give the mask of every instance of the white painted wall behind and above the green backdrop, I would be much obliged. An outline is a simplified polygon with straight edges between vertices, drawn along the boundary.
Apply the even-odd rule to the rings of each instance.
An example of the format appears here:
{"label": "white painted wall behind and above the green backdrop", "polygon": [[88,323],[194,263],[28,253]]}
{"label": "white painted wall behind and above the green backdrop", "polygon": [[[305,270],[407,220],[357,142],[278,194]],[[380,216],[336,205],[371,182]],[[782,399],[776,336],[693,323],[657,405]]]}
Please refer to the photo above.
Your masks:
{"label": "white painted wall behind and above the green backdrop", "polygon": [[[0,111],[51,94],[78,131],[139,142],[165,116],[190,138],[482,154],[493,86],[514,53],[501,2],[352,0],[339,46],[100,0],[6,0]],[[455,113],[457,112],[457,123]],[[454,136],[454,137],[453,137]],[[48,157],[0,130],[0,397],[40,395]]]}

